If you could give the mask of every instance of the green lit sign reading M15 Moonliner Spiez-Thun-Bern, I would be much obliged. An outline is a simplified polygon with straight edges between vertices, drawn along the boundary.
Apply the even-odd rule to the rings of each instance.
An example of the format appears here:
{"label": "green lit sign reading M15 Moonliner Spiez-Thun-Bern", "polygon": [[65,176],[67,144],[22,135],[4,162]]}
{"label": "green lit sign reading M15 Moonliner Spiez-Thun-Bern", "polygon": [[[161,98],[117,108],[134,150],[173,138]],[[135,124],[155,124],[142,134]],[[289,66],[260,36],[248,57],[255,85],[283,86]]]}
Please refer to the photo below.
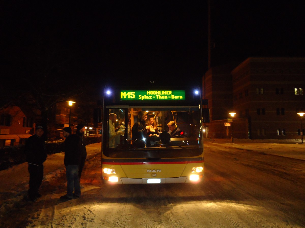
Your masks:
{"label": "green lit sign reading M15 Moonliner Spiez-Thun-Bern", "polygon": [[184,90],[121,90],[121,101],[185,100]]}

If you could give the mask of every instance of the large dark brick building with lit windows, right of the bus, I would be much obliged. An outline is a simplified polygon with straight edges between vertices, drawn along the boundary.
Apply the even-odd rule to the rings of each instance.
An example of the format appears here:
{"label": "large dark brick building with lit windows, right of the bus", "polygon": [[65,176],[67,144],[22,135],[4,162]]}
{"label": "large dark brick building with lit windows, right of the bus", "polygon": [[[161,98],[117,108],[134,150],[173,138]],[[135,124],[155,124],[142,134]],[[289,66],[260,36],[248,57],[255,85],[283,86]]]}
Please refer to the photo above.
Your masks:
{"label": "large dark brick building with lit windows, right of the bus", "polygon": [[297,113],[305,112],[304,89],[303,57],[250,57],[238,66],[211,68],[203,77],[211,113],[207,137],[300,139],[305,124]]}

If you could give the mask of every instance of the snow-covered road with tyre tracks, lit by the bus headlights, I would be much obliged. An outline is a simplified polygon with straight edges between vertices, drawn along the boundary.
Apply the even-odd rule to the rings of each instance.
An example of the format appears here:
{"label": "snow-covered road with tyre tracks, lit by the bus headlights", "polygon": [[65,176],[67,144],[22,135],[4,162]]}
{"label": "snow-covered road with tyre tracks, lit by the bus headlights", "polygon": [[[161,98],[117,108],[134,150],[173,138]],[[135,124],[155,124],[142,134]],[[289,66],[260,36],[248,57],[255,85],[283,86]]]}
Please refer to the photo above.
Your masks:
{"label": "snow-covered road with tyre tracks, lit by the bus headlights", "polygon": [[65,176],[0,220],[3,227],[305,227],[305,161],[205,144],[199,185],[102,185],[86,163],[80,199],[60,202]]}

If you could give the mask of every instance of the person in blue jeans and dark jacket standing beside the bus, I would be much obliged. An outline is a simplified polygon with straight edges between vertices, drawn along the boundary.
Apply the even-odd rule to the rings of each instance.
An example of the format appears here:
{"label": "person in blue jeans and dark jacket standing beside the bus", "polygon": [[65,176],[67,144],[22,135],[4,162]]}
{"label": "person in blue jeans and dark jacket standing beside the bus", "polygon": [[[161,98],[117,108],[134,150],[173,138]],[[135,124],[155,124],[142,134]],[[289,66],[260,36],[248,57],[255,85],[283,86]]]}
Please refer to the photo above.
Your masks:
{"label": "person in blue jeans and dark jacket standing beside the bus", "polygon": [[[81,140],[76,134],[71,134],[70,127],[63,129],[63,136],[66,138],[64,142],[67,178],[67,194],[60,197],[62,200],[70,200],[81,196],[81,187],[78,177],[78,168],[81,163]],[[74,189],[74,193],[73,193]]]}

